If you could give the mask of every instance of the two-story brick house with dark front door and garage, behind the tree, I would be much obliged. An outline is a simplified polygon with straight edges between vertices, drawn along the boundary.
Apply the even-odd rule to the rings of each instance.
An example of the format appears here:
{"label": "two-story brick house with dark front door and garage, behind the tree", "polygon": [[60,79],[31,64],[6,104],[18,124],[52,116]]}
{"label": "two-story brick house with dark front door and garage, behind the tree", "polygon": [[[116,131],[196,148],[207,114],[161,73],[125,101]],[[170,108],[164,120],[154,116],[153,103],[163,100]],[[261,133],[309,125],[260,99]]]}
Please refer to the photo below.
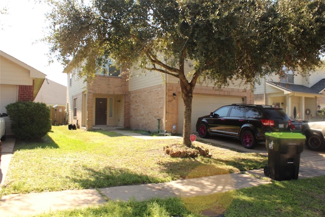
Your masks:
{"label": "two-story brick house with dark front door and garage, behind the tree", "polygon": [[[91,130],[94,126],[181,133],[184,104],[179,80],[156,72],[127,77],[118,69],[96,75],[92,83],[79,78],[78,69],[64,69],[68,74],[68,123]],[[210,114],[220,106],[253,103],[253,93],[237,84],[222,90],[212,85],[197,84],[192,101],[191,130],[199,116]]]}

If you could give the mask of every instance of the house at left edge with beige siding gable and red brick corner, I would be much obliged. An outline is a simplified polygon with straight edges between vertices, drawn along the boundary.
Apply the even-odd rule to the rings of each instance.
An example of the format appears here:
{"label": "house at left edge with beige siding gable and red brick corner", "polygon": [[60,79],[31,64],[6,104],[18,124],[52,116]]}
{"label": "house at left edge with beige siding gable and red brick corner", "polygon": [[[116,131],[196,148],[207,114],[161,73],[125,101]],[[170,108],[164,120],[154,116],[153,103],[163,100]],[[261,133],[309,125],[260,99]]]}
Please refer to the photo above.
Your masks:
{"label": "house at left edge with beige siding gable and red brick corner", "polygon": [[[34,101],[46,75],[13,56],[0,51],[0,113],[17,101]],[[6,118],[6,134],[12,136],[11,121]]]}

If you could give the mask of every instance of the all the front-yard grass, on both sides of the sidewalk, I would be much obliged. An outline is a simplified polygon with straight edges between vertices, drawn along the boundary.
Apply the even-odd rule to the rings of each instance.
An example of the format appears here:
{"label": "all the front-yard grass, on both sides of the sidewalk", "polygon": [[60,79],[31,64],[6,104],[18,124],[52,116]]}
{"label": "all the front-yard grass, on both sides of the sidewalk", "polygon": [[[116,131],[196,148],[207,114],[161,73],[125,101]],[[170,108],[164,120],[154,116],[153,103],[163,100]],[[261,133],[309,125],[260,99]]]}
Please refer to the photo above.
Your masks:
{"label": "all the front-yard grass, on both sides of the sidewalk", "polygon": [[[107,131],[53,127],[43,142],[17,142],[2,195],[165,182],[262,168],[267,158],[206,144],[212,158],[164,153],[180,140],[142,140]],[[198,144],[198,143],[197,143]],[[201,145],[201,144],[200,144]],[[191,198],[108,201],[37,216],[325,216],[325,176]]]}

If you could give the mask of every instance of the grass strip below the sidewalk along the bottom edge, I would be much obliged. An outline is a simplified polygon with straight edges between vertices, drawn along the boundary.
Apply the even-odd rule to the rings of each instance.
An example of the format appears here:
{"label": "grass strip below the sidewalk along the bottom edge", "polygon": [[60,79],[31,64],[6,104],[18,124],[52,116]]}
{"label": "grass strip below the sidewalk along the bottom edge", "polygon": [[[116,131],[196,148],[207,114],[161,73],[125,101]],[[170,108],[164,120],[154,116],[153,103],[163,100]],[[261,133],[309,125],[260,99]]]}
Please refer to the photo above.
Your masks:
{"label": "grass strip below the sidewalk along the bottom edge", "polygon": [[274,181],[258,187],[190,198],[108,201],[103,206],[37,216],[325,216],[324,178]]}

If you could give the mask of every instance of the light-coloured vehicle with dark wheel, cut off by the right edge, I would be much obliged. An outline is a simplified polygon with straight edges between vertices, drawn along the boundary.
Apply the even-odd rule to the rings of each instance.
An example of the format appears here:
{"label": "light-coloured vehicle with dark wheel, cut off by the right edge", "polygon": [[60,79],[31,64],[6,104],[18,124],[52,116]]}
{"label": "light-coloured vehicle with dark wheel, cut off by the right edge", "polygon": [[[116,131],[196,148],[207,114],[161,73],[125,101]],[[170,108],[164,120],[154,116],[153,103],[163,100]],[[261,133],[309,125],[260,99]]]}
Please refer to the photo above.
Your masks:
{"label": "light-coloured vehicle with dark wheel, cut off by the right edge", "polygon": [[325,121],[308,122],[302,125],[302,134],[306,136],[306,146],[310,150],[325,149]]}

